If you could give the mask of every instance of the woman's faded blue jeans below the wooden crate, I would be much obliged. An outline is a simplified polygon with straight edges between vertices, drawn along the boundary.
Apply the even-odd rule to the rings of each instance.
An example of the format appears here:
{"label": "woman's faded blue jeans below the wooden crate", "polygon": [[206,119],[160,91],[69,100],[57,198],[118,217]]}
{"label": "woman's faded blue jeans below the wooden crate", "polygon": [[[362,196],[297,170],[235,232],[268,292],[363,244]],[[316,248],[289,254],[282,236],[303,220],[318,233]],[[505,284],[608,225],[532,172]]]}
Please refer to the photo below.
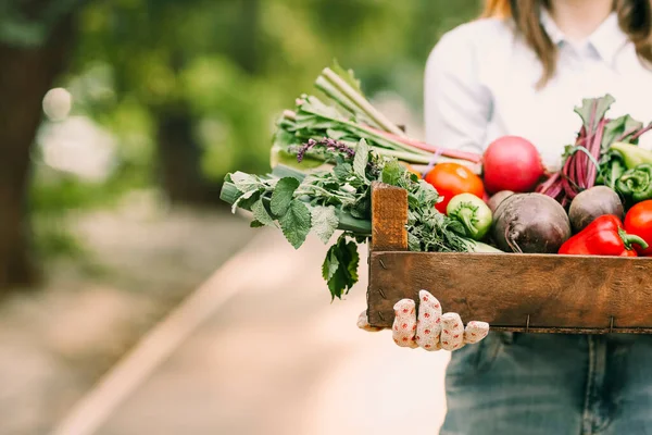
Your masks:
{"label": "woman's faded blue jeans below the wooden crate", "polygon": [[490,333],[446,389],[440,435],[652,434],[652,336]]}

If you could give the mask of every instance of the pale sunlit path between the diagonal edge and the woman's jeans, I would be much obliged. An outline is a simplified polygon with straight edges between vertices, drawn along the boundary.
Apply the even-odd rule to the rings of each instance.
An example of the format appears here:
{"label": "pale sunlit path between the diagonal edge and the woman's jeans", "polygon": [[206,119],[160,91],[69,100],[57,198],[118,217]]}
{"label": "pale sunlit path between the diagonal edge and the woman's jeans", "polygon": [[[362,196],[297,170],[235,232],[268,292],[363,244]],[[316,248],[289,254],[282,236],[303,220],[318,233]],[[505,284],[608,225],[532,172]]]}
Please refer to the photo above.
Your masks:
{"label": "pale sunlit path between the diagonal edge and the woman's jeans", "polygon": [[352,295],[331,304],[319,276],[325,250],[314,239],[294,251],[277,232],[259,236],[221,271],[214,291],[235,286],[235,296],[97,433],[436,434],[449,355],[358,330],[366,257]]}

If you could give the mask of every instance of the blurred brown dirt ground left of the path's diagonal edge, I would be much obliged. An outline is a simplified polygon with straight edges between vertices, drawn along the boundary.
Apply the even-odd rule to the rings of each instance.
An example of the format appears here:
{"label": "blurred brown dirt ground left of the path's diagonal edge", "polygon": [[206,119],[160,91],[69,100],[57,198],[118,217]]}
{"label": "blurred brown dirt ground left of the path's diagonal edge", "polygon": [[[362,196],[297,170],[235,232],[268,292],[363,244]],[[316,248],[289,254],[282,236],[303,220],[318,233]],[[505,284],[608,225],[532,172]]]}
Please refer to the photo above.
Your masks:
{"label": "blurred brown dirt ground left of the path's diagonal edge", "polygon": [[217,211],[79,216],[89,253],[0,307],[0,434],[46,434],[138,338],[255,232]]}

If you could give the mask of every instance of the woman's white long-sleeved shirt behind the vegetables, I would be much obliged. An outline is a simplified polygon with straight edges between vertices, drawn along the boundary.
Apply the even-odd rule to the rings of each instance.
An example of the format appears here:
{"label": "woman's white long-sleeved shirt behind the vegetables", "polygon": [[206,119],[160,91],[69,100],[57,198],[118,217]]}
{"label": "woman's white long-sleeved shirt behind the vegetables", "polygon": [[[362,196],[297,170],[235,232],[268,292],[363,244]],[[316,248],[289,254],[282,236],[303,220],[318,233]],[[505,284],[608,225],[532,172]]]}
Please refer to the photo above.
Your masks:
{"label": "woman's white long-sleeved shirt behind the vegetables", "polygon": [[[652,121],[652,71],[637,57],[615,13],[584,44],[572,44],[546,13],[541,23],[559,47],[555,75],[541,89],[536,87],[541,63],[511,21],[478,20],[441,38],[425,75],[429,144],[481,152],[500,136],[523,136],[553,170],[581,127],[574,109],[584,98],[611,94],[616,102],[609,117]],[[652,132],[640,145],[652,148]]]}

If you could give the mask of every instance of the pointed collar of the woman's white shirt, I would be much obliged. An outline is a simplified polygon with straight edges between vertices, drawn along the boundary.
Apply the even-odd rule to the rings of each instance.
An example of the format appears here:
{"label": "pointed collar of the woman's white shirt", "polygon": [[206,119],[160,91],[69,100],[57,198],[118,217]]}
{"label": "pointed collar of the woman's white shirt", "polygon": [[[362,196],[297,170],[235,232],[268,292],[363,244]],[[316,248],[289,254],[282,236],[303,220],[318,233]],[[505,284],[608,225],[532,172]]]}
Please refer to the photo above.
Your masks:
{"label": "pointed collar of the woman's white shirt", "polygon": [[[568,44],[564,33],[557,27],[550,13],[544,9],[541,11],[540,21],[555,46],[560,47],[563,44]],[[613,65],[618,50],[623,48],[627,40],[627,35],[618,24],[617,14],[612,12],[600,27],[587,38],[586,44],[592,46],[602,60]]]}

